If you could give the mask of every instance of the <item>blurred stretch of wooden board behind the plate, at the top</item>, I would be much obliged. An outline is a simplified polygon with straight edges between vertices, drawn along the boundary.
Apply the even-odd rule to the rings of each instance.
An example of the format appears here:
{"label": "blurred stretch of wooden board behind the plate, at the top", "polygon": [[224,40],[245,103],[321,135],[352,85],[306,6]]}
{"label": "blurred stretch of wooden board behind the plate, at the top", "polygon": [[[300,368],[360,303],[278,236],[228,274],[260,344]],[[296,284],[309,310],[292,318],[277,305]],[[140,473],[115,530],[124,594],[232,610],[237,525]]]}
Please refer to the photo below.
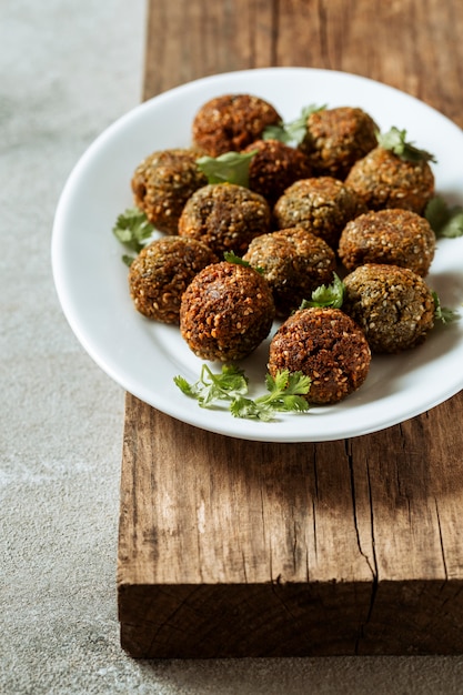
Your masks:
{"label": "blurred stretch of wooden board behind the plate, at the top", "polygon": [[463,127],[459,0],[149,2],[148,99],[208,74],[304,66],[406,91]]}

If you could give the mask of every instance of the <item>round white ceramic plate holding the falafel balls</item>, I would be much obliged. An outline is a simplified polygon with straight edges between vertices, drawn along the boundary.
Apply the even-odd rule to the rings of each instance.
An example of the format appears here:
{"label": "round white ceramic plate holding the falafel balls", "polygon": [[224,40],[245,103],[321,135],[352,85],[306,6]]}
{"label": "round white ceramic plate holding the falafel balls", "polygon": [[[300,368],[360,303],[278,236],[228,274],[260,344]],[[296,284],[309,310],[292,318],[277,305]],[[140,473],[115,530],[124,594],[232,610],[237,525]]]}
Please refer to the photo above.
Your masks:
{"label": "round white ceramic plate holding the falafel balls", "polygon": [[[436,189],[463,203],[463,133],[416,99],[365,78],[304,68],[269,68],[219,74],[165,92],[105,130],[77,163],[56,213],[52,265],[64,314],[91,357],[124,390],[160,411],[212,432],[256,441],[316,442],[368,434],[437,405],[463,387],[463,321],[432,331],[426,342],[394,356],[375,356],[362,387],[344,402],[261,423],[209,411],[173,383],[195,381],[201,361],[174,326],[150,322],[132,306],[123,249],[111,230],[132,207],[130,179],[154,150],[190,144],[197,110],[228,92],[260,95],[285,121],[310,104],[356,105],[385,131],[406,129],[407,139],[437,158]],[[443,305],[463,300],[463,239],[439,241],[427,276]],[[270,340],[270,339],[269,339]],[[243,366],[251,394],[264,392],[266,341]],[[215,366],[220,371],[220,365]]]}

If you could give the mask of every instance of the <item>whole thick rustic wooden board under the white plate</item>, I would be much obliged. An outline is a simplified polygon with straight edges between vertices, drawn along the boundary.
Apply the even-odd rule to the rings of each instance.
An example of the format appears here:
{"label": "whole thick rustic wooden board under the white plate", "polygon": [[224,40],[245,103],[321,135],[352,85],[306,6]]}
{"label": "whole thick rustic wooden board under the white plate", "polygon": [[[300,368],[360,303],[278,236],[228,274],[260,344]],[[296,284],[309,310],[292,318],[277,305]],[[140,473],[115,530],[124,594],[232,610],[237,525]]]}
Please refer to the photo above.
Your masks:
{"label": "whole thick rustic wooden board under the white plate", "polygon": [[[229,70],[306,66],[385,82],[463,125],[461,36],[456,0],[151,0],[144,98]],[[250,443],[128,394],[123,647],[463,653],[462,422],[460,393],[363,437]]]}

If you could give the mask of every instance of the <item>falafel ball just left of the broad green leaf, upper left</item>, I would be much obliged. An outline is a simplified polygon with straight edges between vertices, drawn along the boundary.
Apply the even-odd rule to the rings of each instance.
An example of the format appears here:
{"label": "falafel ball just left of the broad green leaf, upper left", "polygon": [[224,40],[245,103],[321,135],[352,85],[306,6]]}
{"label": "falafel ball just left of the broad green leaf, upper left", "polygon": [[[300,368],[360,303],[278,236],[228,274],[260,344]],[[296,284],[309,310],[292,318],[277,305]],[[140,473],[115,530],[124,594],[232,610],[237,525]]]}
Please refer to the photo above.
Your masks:
{"label": "falafel ball just left of the broad green leaf, upper left", "polygon": [[198,157],[193,150],[160,150],[137,167],[131,181],[135,205],[160,232],[177,234],[187,200],[208,183]]}

